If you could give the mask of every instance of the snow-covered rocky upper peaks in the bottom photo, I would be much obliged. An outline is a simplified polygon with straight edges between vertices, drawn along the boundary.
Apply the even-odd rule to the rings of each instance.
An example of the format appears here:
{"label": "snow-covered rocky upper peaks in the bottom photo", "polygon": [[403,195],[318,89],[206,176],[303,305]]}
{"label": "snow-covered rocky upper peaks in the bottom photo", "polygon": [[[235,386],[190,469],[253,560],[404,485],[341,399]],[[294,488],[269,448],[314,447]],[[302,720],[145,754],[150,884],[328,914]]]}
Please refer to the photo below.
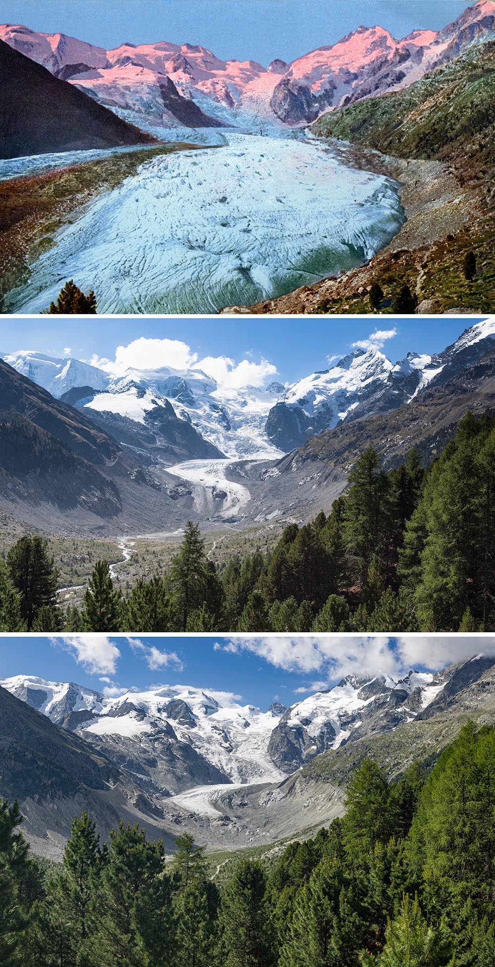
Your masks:
{"label": "snow-covered rocky upper peaks in the bottom photo", "polygon": [[[113,698],[70,682],[25,675],[0,680],[0,686],[56,724],[117,754],[118,761],[129,756],[133,763],[140,757],[144,763],[162,754],[156,768],[165,783],[162,789],[177,754],[178,791],[184,791],[226,779],[277,782],[320,752],[435,715],[436,703],[445,711],[491,665],[493,658],[477,656],[443,671],[411,670],[398,681],[380,671],[347,675],[332,689],[310,694],[290,708],[274,703],[268,712],[242,705],[228,692],[183,685],[130,689]],[[181,763],[188,764],[187,777]]]}

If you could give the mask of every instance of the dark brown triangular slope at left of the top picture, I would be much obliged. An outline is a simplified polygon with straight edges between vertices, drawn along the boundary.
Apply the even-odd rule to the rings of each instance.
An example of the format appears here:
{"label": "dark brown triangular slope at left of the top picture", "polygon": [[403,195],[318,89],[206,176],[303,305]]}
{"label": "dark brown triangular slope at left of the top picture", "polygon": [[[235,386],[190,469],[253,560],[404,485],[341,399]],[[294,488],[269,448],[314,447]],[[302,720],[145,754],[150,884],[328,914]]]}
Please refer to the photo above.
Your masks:
{"label": "dark brown triangular slope at left of the top picture", "polygon": [[155,141],[3,41],[0,84],[0,158]]}

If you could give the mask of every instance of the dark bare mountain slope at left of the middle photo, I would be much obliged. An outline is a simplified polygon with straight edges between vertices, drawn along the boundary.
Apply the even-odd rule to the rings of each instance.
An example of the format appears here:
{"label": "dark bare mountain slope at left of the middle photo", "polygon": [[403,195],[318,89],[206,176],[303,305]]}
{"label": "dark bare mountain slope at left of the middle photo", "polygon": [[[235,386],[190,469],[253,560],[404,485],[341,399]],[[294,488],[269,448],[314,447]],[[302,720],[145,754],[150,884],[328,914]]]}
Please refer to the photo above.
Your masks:
{"label": "dark bare mountain slope at left of the middle photo", "polygon": [[[191,427],[165,415],[182,447]],[[190,491],[172,478],[158,481],[138,450],[123,449],[85,411],[55,399],[3,361],[0,449],[3,508],[50,533],[68,527],[75,533],[155,530],[160,522],[177,527],[189,517]]]}

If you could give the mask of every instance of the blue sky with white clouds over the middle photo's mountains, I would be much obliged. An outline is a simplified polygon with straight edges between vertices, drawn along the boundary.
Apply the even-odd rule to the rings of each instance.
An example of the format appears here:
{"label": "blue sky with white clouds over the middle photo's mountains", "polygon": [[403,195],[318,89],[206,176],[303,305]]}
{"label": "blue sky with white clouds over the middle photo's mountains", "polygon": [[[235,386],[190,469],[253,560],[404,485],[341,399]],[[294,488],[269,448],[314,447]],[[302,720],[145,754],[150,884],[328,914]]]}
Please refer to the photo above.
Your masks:
{"label": "blue sky with white clouds over the middle photo's mountains", "polygon": [[[117,346],[131,346],[121,354],[126,366],[181,367],[181,361],[195,356],[196,365],[205,357],[213,358],[210,374],[221,381],[225,369],[218,358],[227,357],[231,364],[239,366],[243,360],[254,364],[249,381],[256,384],[256,375],[281,382],[293,383],[303,376],[329,366],[329,359],[336,359],[351,351],[356,342],[372,337],[395,363],[408,351],[434,353],[445,349],[462,331],[480,321],[481,317],[460,319],[406,319],[403,316],[383,316],[380,320],[346,319],[340,322],[328,318],[256,319],[218,317],[189,319],[77,319],[52,322],[50,316],[42,319],[15,317],[4,321],[0,328],[0,355],[18,349],[31,349],[48,356],[68,356],[75,359],[115,360]],[[376,336],[376,334],[382,334]],[[174,344],[139,343],[136,339],[170,339]],[[267,367],[268,361],[270,367]],[[98,359],[93,360],[98,364]],[[259,369],[256,369],[256,366]],[[206,368],[206,366],[204,366]],[[274,372],[274,367],[277,372]],[[266,374],[266,375],[264,375]]]}

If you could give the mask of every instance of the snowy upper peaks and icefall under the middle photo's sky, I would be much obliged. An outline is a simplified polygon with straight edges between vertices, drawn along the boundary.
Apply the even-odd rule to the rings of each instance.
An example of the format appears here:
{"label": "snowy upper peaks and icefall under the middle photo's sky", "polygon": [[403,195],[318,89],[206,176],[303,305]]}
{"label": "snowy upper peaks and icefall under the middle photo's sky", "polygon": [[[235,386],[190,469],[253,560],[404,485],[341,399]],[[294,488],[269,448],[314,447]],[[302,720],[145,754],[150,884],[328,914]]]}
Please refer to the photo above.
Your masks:
{"label": "snowy upper peaks and icefall under the middle photo's sky", "polygon": [[[155,433],[160,458],[172,464],[188,457],[281,456],[322,430],[410,403],[427,387],[447,383],[492,347],[495,319],[490,318],[465,330],[433,356],[409,352],[393,363],[373,346],[357,348],[329,369],[289,386],[273,382],[265,389],[239,390],[225,389],[194,368],[130,368],[116,374],[79,360],[26,350],[4,354],[3,360],[102,425],[121,443],[132,445],[133,434],[134,445],[142,438],[144,449],[144,438]],[[167,439],[163,429],[165,416],[171,420],[172,414],[182,421],[180,444],[177,438]]]}

